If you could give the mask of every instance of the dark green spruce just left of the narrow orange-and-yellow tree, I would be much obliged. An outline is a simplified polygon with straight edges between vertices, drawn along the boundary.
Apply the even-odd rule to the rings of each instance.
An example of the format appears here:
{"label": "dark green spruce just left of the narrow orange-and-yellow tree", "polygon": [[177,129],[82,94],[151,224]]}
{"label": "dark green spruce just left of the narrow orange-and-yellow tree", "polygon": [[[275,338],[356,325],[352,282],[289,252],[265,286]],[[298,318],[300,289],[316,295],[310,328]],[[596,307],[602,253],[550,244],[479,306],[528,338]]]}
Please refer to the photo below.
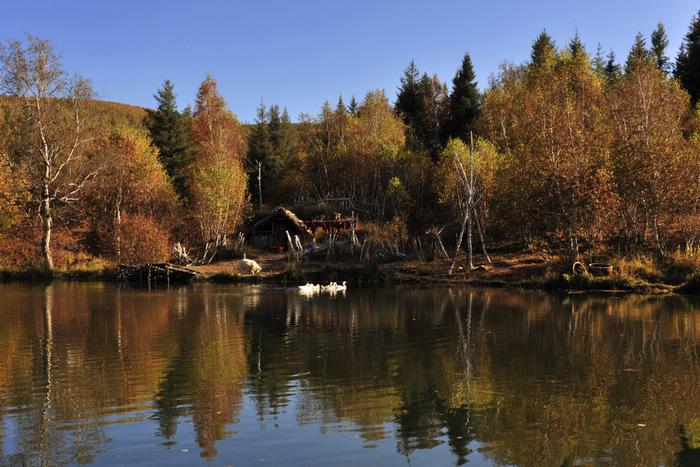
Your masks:
{"label": "dark green spruce just left of the narrow orange-and-yellow tree", "polygon": [[173,88],[170,80],[166,79],[163,88],[153,95],[158,107],[156,110],[147,110],[145,125],[175,189],[179,195],[187,196],[185,172],[193,157],[189,135],[191,110],[187,108],[182,113],[178,111],[177,94]]}

